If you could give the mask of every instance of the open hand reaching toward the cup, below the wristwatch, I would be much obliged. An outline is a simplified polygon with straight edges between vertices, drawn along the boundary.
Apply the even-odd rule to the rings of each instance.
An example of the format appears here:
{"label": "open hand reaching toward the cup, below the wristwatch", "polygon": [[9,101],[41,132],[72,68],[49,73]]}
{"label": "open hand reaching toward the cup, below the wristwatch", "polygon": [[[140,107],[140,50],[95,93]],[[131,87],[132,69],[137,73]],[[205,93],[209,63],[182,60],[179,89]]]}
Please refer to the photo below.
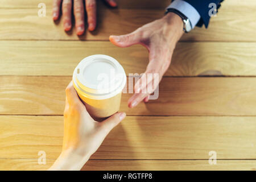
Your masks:
{"label": "open hand reaching toward the cup, below the wristwatch", "polygon": [[[110,36],[110,42],[119,47],[129,47],[134,44],[142,44],[149,51],[149,63],[143,76],[135,83],[135,94],[129,99],[129,107],[135,107],[139,102],[148,101],[148,96],[154,90],[142,93],[149,84],[154,83],[154,73],[159,74],[159,82],[171,64],[172,53],[176,43],[183,35],[183,21],[180,16],[168,13],[163,18],[145,24],[134,32]],[[135,65],[134,65],[135,66]],[[153,73],[152,78],[146,78],[147,73]],[[154,89],[154,88],[153,88]]]}

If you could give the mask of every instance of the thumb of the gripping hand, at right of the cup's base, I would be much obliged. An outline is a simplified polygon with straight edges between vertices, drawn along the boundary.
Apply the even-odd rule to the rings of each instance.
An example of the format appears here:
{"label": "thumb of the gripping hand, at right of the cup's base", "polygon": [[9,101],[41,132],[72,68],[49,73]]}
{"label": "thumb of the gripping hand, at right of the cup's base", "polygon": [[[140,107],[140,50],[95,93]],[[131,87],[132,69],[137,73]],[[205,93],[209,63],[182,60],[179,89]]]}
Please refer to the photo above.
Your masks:
{"label": "thumb of the gripping hand, at right of the cup's base", "polygon": [[109,133],[115,126],[118,125],[126,117],[126,113],[115,113],[105,121],[101,122],[102,129]]}

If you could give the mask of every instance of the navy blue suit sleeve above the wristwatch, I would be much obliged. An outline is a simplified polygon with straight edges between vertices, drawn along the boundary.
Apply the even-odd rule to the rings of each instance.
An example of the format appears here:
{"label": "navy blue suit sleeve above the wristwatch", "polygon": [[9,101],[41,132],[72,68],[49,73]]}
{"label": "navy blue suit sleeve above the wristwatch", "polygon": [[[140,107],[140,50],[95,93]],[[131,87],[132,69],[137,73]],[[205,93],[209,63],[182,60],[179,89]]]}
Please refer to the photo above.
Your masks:
{"label": "navy blue suit sleeve above the wristwatch", "polygon": [[209,7],[210,3],[215,3],[217,5],[217,11],[218,8],[221,6],[221,2],[224,0],[183,0],[188,2],[190,5],[195,7],[195,9],[198,11],[198,13],[201,16],[201,19],[196,24],[196,26],[203,26],[208,27],[210,16],[209,16],[209,10],[212,9],[212,7]]}

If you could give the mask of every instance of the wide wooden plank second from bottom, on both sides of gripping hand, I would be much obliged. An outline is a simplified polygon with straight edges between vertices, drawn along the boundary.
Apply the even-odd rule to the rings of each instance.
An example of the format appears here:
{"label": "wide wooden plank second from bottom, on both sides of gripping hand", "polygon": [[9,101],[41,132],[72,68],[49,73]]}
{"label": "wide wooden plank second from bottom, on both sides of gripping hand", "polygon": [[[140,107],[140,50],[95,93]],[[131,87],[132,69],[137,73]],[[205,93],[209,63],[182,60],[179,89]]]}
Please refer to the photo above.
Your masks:
{"label": "wide wooden plank second from bottom, on both sides of gripping hand", "polygon": [[[0,159],[61,152],[61,116],[1,116],[0,127]],[[255,130],[255,117],[128,116],[91,159],[209,159],[209,151],[217,159],[256,159]]]}

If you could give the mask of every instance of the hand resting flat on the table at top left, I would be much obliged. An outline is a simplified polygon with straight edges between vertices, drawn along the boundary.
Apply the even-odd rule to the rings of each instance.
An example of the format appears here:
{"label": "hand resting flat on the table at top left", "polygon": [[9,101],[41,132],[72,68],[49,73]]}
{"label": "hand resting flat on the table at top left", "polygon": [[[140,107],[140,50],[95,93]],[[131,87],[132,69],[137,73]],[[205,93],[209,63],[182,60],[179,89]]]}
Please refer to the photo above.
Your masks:
{"label": "hand resting flat on the table at top left", "polygon": [[[115,0],[104,0],[112,7],[116,7]],[[73,13],[76,21],[76,34],[82,35],[85,31],[84,2],[87,13],[88,30],[93,31],[96,28],[96,0],[53,0],[53,20],[59,19],[62,2],[62,13],[64,18],[64,30],[69,31],[72,28],[72,4]]]}

